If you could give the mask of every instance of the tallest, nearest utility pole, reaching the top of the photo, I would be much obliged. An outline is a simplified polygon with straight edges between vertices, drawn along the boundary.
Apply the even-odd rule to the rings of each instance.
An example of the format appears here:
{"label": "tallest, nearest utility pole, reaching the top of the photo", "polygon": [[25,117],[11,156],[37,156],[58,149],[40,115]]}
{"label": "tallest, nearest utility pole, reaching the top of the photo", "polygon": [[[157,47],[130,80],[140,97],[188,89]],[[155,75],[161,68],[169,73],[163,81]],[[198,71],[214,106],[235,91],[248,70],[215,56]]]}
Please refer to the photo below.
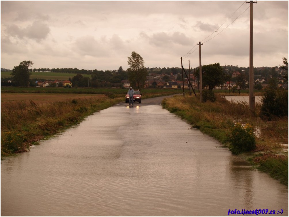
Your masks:
{"label": "tallest, nearest utility pole, reaching the top of the photo", "polygon": [[249,106],[251,110],[255,110],[254,97],[254,66],[253,66],[253,3],[257,1],[249,1],[250,3],[250,42],[249,42]]}

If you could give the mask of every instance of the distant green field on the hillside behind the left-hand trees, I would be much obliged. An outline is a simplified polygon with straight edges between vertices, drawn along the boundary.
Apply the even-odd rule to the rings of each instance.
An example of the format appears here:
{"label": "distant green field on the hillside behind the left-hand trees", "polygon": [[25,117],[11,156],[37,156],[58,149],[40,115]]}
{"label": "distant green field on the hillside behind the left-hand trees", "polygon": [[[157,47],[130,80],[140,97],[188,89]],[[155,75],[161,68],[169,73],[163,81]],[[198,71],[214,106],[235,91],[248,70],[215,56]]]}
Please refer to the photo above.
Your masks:
{"label": "distant green field on the hillside behind the left-hand trees", "polygon": [[[30,75],[31,79],[46,79],[46,80],[68,80],[69,77],[72,78],[76,74],[73,73],[60,73],[60,72],[32,72]],[[84,77],[91,77],[91,75],[83,74]],[[11,72],[1,72],[1,78],[11,77]]]}

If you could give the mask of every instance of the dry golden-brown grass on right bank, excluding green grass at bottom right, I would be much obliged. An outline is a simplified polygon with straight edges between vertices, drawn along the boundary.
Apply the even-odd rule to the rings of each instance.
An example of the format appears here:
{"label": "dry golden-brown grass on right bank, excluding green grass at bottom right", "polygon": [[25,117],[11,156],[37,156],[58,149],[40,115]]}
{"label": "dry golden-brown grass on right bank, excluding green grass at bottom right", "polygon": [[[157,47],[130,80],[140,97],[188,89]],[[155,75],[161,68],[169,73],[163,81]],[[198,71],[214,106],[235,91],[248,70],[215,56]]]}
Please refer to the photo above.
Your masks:
{"label": "dry golden-brown grass on right bank, excluding green grass at bottom right", "polygon": [[[274,121],[261,120],[260,104],[256,104],[252,112],[247,103],[233,103],[224,98],[224,94],[216,94],[216,101],[200,103],[199,97],[176,96],[164,101],[165,107],[187,120],[193,127],[206,125],[212,129],[229,129],[236,122],[250,124],[260,130],[257,138],[257,150],[280,148],[280,143],[288,144],[288,118]],[[205,122],[205,123],[204,123]]]}

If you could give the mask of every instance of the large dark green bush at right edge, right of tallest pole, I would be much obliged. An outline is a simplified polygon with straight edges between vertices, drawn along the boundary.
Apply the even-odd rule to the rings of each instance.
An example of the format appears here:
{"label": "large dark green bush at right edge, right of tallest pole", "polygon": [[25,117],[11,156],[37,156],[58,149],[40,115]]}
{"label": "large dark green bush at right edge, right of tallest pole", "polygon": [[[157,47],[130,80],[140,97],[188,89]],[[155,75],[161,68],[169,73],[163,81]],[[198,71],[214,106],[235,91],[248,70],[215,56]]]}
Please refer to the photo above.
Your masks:
{"label": "large dark green bush at right edge, right of tallest pole", "polygon": [[268,89],[262,98],[261,118],[288,117],[288,90]]}

